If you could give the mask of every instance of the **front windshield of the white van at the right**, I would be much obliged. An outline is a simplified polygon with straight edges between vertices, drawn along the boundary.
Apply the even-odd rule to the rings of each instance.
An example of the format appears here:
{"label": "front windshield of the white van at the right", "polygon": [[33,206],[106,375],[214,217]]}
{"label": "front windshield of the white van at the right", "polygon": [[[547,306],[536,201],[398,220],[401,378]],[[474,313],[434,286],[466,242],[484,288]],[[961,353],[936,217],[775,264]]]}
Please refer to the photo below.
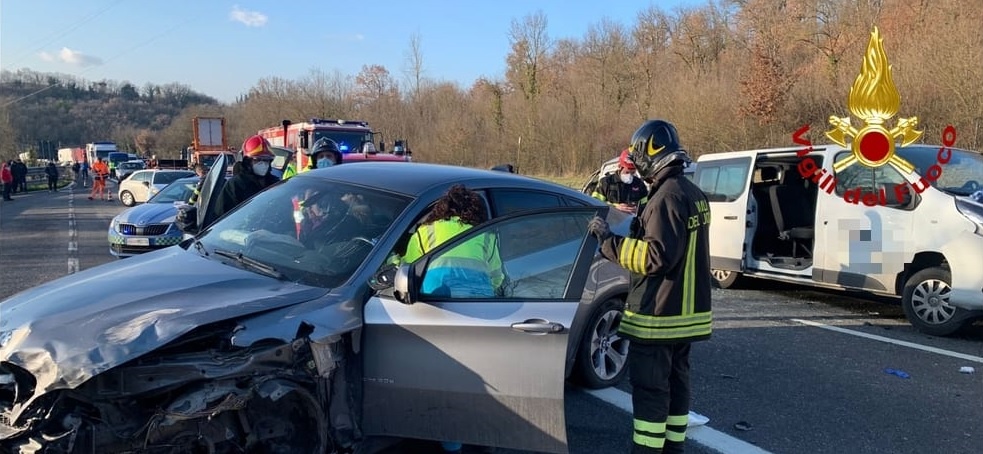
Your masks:
{"label": "front windshield of the white van at the right", "polygon": [[[909,146],[897,148],[898,156],[915,166],[915,171],[925,177],[928,169],[938,163],[938,147]],[[945,156],[943,156],[945,158]],[[983,183],[983,155],[971,151],[952,149],[952,158],[941,164],[942,175],[931,181],[936,189],[955,195],[970,195],[981,189]],[[929,178],[925,178],[929,181]]]}

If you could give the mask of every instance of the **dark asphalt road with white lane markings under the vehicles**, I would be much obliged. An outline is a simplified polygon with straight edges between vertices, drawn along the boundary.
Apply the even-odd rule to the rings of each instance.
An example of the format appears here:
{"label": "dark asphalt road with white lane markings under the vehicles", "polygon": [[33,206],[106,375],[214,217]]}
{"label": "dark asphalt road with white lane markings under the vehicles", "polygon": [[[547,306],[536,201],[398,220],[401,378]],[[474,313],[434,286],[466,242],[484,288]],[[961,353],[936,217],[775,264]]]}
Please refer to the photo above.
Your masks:
{"label": "dark asphalt road with white lane markings under the vehicles", "polygon": [[[86,195],[64,189],[0,202],[0,299],[116,260],[106,229],[124,207]],[[983,451],[983,325],[936,338],[915,332],[891,299],[762,281],[714,296],[713,339],[691,358],[693,411],[709,422],[690,431],[687,452]],[[975,373],[960,373],[967,366]],[[568,388],[571,453],[627,452],[629,393],[627,383]]]}

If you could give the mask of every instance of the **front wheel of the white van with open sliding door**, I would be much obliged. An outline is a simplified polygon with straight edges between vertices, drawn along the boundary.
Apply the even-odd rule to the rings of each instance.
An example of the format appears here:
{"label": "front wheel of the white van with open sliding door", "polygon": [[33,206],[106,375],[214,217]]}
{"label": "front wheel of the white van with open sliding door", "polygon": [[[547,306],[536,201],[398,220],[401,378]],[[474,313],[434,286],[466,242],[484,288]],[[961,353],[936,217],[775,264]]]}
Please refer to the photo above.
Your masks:
{"label": "front wheel of the white van with open sliding door", "polygon": [[949,305],[951,283],[952,273],[941,267],[921,270],[905,282],[901,307],[918,331],[948,336],[972,323],[969,311]]}

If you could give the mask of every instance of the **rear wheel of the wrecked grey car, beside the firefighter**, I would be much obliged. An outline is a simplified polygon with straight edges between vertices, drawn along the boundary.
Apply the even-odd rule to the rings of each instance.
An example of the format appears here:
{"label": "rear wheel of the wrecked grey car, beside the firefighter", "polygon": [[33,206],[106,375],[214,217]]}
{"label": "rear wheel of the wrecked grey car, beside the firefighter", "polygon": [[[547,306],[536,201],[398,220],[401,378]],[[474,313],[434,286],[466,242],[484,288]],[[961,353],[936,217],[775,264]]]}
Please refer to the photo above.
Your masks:
{"label": "rear wheel of the wrecked grey car, beside the firefighter", "polygon": [[621,300],[609,299],[594,310],[584,328],[574,373],[577,382],[585,388],[614,386],[628,371],[628,339],[621,338],[617,332],[622,311]]}

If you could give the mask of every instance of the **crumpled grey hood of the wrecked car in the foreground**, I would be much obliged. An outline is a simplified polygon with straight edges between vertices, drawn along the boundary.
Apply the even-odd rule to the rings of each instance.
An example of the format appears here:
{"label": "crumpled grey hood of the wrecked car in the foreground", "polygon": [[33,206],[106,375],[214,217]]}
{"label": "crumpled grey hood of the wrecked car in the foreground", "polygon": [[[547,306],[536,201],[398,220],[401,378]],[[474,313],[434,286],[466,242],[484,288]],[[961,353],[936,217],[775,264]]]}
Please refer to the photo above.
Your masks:
{"label": "crumpled grey hood of the wrecked car in the foreground", "polygon": [[31,372],[38,396],[74,388],[196,327],[325,293],[168,248],[56,279],[0,303],[0,361]]}

